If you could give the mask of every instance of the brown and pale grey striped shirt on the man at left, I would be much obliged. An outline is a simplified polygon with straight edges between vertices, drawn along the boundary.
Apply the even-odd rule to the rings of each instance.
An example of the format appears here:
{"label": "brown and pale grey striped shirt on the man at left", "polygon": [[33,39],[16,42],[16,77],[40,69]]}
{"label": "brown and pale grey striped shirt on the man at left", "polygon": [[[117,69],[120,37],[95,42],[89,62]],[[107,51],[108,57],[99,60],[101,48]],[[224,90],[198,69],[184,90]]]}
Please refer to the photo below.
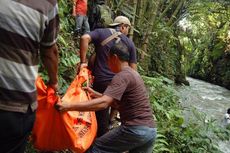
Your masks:
{"label": "brown and pale grey striped shirt on the man at left", "polygon": [[0,109],[37,107],[40,46],[56,43],[56,0],[0,0]]}

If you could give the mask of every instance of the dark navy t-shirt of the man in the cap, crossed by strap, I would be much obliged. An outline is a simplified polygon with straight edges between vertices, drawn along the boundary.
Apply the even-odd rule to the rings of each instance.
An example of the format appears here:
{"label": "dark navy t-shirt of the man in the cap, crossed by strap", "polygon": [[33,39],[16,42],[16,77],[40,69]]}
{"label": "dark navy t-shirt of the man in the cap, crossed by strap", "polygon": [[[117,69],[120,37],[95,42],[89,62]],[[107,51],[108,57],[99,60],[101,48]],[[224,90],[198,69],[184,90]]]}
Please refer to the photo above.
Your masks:
{"label": "dark navy t-shirt of the man in the cap, crossed by strap", "polygon": [[[96,52],[96,60],[94,63],[93,75],[94,75],[94,82],[105,82],[111,81],[114,73],[111,72],[108,66],[108,55],[110,48],[114,45],[115,39],[108,42],[105,46],[101,45],[101,42],[112,35],[109,28],[104,29],[96,29],[89,33],[91,36],[92,42],[95,46]],[[129,63],[136,63],[136,48],[134,43],[124,34],[119,36],[121,41],[128,46],[130,52],[130,60]]]}

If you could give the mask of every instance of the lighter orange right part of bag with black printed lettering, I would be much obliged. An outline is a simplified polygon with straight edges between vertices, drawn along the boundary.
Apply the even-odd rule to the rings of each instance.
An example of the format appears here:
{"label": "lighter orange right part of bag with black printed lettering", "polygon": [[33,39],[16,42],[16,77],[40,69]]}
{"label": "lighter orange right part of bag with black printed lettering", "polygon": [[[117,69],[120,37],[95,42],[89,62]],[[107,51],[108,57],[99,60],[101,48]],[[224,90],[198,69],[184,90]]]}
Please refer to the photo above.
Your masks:
{"label": "lighter orange right part of bag with black printed lettering", "polygon": [[[69,103],[88,100],[90,97],[87,96],[87,93],[82,90],[81,87],[85,82],[87,85],[89,84],[89,76],[90,71],[88,69],[81,69],[62,99]],[[73,141],[74,147],[71,147],[72,151],[77,153],[86,151],[97,134],[95,112],[68,111],[63,114],[63,120],[65,121],[64,123],[68,133],[77,133],[70,135],[71,139],[75,140]]]}

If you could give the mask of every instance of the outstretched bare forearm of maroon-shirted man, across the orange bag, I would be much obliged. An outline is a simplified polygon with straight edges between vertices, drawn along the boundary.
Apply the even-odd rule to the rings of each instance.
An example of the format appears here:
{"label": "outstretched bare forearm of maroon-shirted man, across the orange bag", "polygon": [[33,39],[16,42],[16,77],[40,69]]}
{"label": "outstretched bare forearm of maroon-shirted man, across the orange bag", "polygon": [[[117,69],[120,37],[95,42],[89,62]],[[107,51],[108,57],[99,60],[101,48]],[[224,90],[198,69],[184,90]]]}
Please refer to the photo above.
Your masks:
{"label": "outstretched bare forearm of maroon-shirted man, across the orange bag", "polygon": [[100,98],[95,98],[89,101],[77,102],[77,103],[57,103],[56,108],[59,111],[97,111],[102,110],[110,106],[113,102],[113,98],[103,95]]}

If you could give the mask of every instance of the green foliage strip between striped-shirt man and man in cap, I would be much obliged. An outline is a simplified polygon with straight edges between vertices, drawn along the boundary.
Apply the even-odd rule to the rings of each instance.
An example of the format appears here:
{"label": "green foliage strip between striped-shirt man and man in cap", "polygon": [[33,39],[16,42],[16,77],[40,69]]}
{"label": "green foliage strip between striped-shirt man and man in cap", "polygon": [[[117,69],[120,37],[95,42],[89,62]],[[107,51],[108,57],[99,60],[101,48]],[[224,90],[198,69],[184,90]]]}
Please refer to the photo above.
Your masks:
{"label": "green foliage strip between striped-shirt man and man in cap", "polygon": [[[73,37],[73,29],[75,26],[75,19],[72,17],[72,2],[60,0],[59,16],[60,16],[60,31],[58,35],[58,49],[59,49],[59,67],[58,67],[58,82],[59,93],[65,93],[69,84],[76,75],[76,65],[80,61],[77,55],[76,42]],[[40,66],[40,75],[46,81],[48,80],[47,73]]]}

